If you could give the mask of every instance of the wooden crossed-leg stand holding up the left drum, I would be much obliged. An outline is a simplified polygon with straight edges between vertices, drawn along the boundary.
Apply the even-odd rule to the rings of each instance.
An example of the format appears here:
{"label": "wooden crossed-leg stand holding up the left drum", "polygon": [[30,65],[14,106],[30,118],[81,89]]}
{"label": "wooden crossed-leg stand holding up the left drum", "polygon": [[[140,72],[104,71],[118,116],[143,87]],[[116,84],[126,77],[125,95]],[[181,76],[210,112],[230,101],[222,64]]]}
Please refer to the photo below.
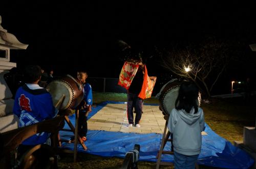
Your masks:
{"label": "wooden crossed-leg stand holding up the left drum", "polygon": [[[65,95],[62,95],[62,97],[59,99],[59,101],[56,103],[55,107],[58,107],[59,105],[62,104],[62,101],[64,100]],[[76,162],[77,159],[77,140],[78,142],[81,144],[82,148],[84,150],[87,150],[86,145],[83,143],[81,137],[78,135],[78,117],[79,117],[79,110],[76,109],[75,110],[75,127],[73,126],[73,124],[70,122],[69,117],[65,116],[65,121],[67,122],[67,124],[69,125],[70,129],[62,129],[62,131],[72,131],[75,135],[75,140],[74,140],[74,162]],[[59,135],[59,134],[58,134]],[[59,136],[58,136],[59,137]],[[68,142],[70,143],[70,141],[67,140],[61,140],[59,137],[59,146],[61,147],[61,141],[62,142]]]}

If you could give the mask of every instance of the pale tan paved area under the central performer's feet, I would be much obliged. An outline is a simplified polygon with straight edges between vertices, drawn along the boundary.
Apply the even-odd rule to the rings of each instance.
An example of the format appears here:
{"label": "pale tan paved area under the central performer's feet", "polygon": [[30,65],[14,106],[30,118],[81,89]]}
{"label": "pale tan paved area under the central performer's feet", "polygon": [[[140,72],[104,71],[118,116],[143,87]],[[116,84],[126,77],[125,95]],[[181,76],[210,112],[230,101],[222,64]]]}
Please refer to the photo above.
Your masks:
{"label": "pale tan paved area under the central performer's feet", "polygon": [[[165,120],[159,106],[143,105],[141,127],[128,127],[126,104],[107,104],[88,121],[89,130],[163,133]],[[134,114],[135,119],[136,114]]]}

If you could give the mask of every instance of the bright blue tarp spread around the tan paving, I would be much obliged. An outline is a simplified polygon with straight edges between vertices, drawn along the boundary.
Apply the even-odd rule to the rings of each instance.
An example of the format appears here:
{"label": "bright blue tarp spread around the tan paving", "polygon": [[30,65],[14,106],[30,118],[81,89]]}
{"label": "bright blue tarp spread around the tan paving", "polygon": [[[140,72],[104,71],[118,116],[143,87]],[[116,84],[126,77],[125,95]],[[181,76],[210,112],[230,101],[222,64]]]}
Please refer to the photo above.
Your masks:
{"label": "bright blue tarp spread around the tan paving", "polygon": [[[93,107],[89,118],[95,115],[101,108],[108,103],[125,103],[125,102],[103,102],[96,107]],[[157,105],[157,104],[144,104]],[[74,124],[74,115],[70,117]],[[202,150],[198,158],[198,164],[223,167],[223,168],[249,168],[254,160],[243,150],[234,147],[226,139],[220,137],[210,127],[205,124],[205,132],[208,135],[202,136]],[[68,129],[68,125],[65,125]],[[60,136],[63,139],[70,139],[73,136],[72,132],[60,131]],[[105,157],[124,157],[127,151],[131,151],[135,144],[140,145],[140,158],[144,161],[156,161],[156,155],[160,149],[162,134],[150,133],[123,133],[111,131],[89,130],[87,134],[86,146],[87,151],[84,151],[81,145],[78,145],[78,151],[90,153]],[[73,144],[62,143],[62,148],[74,149]],[[165,150],[170,150],[170,143],[165,146]],[[172,155],[163,155],[162,161],[173,162]]]}

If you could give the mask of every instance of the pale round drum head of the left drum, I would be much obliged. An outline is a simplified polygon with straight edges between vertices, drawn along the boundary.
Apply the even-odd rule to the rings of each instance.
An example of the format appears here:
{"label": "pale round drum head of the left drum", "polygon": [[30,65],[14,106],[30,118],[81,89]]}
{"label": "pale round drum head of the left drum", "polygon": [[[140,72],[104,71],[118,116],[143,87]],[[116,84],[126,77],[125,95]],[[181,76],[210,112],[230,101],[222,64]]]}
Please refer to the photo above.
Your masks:
{"label": "pale round drum head of the left drum", "polygon": [[52,95],[53,105],[55,106],[62,95],[65,95],[65,98],[60,105],[59,109],[67,109],[72,103],[72,88],[67,85],[65,81],[55,80],[49,83],[47,86],[47,91]]}

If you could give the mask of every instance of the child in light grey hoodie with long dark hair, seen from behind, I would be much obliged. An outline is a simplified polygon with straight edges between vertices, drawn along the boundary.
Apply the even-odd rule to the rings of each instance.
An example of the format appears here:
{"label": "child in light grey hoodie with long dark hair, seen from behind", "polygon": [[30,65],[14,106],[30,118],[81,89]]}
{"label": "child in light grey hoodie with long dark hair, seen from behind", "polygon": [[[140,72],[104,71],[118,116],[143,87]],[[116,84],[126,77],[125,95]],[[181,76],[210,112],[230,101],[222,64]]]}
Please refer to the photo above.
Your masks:
{"label": "child in light grey hoodie with long dark hair, seen from behind", "polygon": [[204,112],[198,107],[199,89],[194,82],[181,84],[168,129],[173,133],[175,169],[195,168],[201,152]]}

